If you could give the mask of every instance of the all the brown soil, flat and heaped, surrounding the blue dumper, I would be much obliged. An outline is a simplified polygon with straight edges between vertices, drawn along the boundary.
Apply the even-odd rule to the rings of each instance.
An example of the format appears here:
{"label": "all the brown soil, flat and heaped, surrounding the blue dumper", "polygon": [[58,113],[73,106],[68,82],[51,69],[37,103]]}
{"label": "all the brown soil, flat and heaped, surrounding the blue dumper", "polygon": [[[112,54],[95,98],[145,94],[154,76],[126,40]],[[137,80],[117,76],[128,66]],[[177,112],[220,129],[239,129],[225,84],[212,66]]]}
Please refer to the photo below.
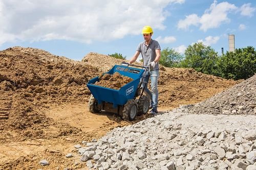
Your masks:
{"label": "all the brown soil, flat and heaped, surrounding the blue dumper", "polygon": [[[0,169],[87,169],[79,157],[66,158],[75,144],[150,117],[126,122],[89,112],[86,84],[121,62],[97,53],[74,61],[37,48],[0,51]],[[160,66],[159,111],[205,101],[239,82]],[[40,165],[43,159],[50,164]]]}

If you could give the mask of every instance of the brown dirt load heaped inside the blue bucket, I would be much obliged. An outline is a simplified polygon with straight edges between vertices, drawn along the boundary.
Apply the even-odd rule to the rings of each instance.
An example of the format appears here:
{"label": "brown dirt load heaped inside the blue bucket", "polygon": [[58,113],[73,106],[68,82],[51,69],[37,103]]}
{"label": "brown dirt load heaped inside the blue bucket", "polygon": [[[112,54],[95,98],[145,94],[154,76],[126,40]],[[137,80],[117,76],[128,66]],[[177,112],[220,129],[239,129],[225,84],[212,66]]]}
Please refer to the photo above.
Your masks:
{"label": "brown dirt load heaped inside the blue bucket", "polygon": [[99,82],[95,82],[94,84],[97,86],[119,90],[122,86],[130,83],[131,81],[133,81],[132,78],[123,76],[119,72],[114,72],[113,75],[102,74],[99,77]]}

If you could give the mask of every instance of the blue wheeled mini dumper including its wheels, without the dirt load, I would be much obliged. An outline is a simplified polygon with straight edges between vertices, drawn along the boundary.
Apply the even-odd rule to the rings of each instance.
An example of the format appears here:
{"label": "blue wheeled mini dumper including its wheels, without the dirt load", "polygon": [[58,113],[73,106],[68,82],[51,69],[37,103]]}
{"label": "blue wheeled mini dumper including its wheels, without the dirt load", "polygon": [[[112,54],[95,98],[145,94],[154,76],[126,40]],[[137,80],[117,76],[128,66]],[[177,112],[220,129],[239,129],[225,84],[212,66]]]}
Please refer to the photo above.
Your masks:
{"label": "blue wheeled mini dumper including its wheels, without the dirt load", "polygon": [[[115,65],[104,74],[113,75],[114,72],[119,72],[120,75],[133,79],[119,90],[95,85],[95,82],[100,81],[99,77],[91,79],[87,84],[92,93],[88,103],[89,110],[92,113],[102,111],[117,113],[124,120],[130,121],[134,120],[137,115],[146,114],[150,108],[150,99],[143,95],[147,85],[147,82],[143,80],[148,70],[150,70],[150,66],[143,67],[125,62]],[[143,88],[142,83],[144,83]]]}

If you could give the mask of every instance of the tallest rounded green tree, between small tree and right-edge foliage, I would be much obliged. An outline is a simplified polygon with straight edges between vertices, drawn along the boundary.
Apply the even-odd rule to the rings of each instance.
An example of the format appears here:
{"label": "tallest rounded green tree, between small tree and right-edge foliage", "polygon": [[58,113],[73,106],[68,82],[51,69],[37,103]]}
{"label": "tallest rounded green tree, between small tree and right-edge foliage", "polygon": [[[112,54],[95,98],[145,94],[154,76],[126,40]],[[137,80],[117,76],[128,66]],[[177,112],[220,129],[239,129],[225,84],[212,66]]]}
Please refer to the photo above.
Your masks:
{"label": "tallest rounded green tree, between small tree and right-edge foliage", "polygon": [[210,46],[202,42],[189,45],[185,50],[185,59],[181,61],[180,66],[184,68],[194,68],[204,74],[216,75],[218,53]]}

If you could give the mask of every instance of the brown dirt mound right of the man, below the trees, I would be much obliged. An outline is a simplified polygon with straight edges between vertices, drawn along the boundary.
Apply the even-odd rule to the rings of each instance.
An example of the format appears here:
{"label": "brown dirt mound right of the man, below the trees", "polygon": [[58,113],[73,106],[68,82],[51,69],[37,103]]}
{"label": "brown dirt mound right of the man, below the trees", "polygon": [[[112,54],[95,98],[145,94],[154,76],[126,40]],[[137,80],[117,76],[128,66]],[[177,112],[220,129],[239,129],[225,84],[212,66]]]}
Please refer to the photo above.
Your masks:
{"label": "brown dirt mound right of the man, below the trees", "polygon": [[236,84],[194,69],[163,68],[159,77],[160,107],[198,103]]}

